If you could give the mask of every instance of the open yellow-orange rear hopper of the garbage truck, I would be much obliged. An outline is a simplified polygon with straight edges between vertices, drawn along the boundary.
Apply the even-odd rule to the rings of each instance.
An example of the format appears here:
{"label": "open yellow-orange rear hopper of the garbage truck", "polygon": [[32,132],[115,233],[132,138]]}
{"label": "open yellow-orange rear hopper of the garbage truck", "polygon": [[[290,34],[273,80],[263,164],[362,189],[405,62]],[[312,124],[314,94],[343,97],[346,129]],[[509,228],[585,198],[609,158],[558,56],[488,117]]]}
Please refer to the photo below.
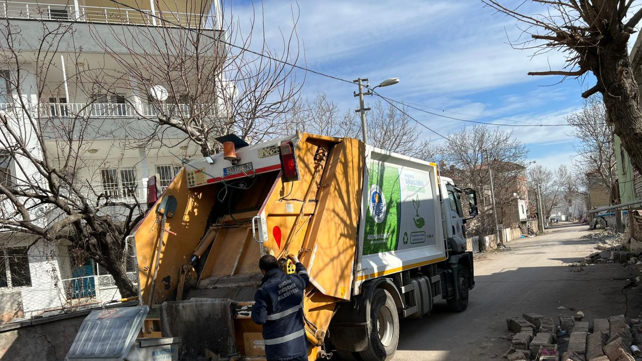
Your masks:
{"label": "open yellow-orange rear hopper of the garbage truck", "polygon": [[[261,327],[250,319],[258,260],[300,253],[311,276],[304,314],[315,360],[324,355],[336,304],[351,299],[365,145],[307,133],[259,145],[233,136],[221,143],[223,153],[185,164],[134,234],[141,303],[163,304],[156,307],[160,322],[145,331],[182,337],[186,352],[216,348],[219,357],[236,357],[213,341],[226,337],[217,332],[232,332],[225,342],[239,357],[261,358]],[[198,324],[209,304],[221,308],[215,322],[223,331],[204,325],[211,320]]]}

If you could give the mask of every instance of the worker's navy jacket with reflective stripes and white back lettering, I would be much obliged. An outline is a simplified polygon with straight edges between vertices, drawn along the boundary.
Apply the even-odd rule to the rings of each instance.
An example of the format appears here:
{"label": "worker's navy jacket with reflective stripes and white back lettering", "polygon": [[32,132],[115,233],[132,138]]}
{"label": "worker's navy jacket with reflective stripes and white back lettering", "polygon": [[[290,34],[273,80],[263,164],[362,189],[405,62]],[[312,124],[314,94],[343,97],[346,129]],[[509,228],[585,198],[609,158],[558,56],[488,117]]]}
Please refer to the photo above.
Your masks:
{"label": "worker's navy jacket with reflective stripes and white back lettering", "polygon": [[286,361],[308,353],[303,328],[303,292],[308,286],[306,268],[297,263],[295,274],[271,269],[254,295],[252,321],[263,325],[268,360]]}

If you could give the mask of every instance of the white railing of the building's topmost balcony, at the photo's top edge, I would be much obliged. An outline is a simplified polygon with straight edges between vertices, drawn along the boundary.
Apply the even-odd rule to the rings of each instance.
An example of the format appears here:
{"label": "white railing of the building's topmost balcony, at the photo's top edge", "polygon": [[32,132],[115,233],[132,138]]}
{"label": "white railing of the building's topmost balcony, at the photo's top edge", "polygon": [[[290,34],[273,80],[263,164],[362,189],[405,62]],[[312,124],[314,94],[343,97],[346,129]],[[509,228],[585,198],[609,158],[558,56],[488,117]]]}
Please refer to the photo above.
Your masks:
{"label": "white railing of the building's topmost balcony, at the photo's top edge", "polygon": [[[155,15],[155,16],[154,16]],[[198,13],[105,8],[71,4],[24,3],[5,1],[0,5],[0,17],[53,21],[103,22],[106,24],[135,24],[148,26],[185,26],[212,28],[213,16]]]}

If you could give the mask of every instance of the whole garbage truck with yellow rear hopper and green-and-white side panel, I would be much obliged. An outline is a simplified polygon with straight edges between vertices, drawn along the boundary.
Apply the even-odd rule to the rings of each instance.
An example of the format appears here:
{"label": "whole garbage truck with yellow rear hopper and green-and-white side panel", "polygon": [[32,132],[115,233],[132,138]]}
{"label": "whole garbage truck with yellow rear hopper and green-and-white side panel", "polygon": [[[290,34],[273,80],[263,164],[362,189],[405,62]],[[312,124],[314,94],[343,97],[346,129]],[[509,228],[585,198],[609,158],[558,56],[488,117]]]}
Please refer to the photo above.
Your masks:
{"label": "whole garbage truck with yellow rear hopper and green-and-white side panel", "polygon": [[[308,269],[309,360],[392,358],[399,319],[445,301],[463,312],[474,286],[467,219],[473,189],[435,163],[357,139],[297,133],[186,161],[135,231],[143,337],[181,337],[183,352],[265,359],[250,309],[259,258]],[[463,204],[462,204],[463,203]],[[463,207],[462,207],[463,206]],[[464,215],[464,209],[466,215]]]}

